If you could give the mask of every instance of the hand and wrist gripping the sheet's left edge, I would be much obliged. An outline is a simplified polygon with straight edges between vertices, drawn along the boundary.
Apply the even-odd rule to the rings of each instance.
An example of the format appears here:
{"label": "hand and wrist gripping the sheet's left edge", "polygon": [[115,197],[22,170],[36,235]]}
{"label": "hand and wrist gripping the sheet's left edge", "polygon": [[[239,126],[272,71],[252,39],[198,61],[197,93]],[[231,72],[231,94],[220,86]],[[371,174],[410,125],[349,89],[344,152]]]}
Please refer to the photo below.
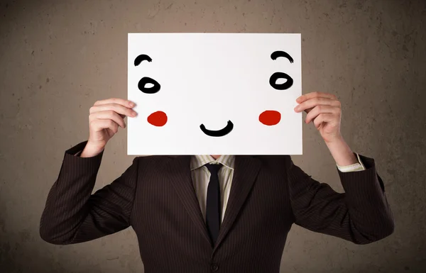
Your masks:
{"label": "hand and wrist gripping the sheet's left edge", "polygon": [[104,99],[97,101],[89,109],[89,140],[80,157],[99,155],[118,131],[119,126],[126,128],[124,118],[135,117],[135,104],[124,99]]}

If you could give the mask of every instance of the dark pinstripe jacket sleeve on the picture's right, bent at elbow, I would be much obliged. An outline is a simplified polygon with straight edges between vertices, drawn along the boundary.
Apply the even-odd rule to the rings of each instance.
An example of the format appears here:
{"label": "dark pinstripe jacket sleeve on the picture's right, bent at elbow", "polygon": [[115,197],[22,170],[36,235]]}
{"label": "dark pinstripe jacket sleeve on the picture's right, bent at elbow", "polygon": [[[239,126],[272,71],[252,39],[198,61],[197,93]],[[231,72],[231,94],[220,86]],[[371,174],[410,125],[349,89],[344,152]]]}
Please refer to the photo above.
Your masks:
{"label": "dark pinstripe jacket sleeve on the picture's right, bent at elbow", "polygon": [[372,158],[359,155],[365,169],[340,172],[344,194],[315,179],[288,160],[290,204],[295,223],[309,230],[349,240],[373,243],[393,233],[394,221],[381,177]]}

